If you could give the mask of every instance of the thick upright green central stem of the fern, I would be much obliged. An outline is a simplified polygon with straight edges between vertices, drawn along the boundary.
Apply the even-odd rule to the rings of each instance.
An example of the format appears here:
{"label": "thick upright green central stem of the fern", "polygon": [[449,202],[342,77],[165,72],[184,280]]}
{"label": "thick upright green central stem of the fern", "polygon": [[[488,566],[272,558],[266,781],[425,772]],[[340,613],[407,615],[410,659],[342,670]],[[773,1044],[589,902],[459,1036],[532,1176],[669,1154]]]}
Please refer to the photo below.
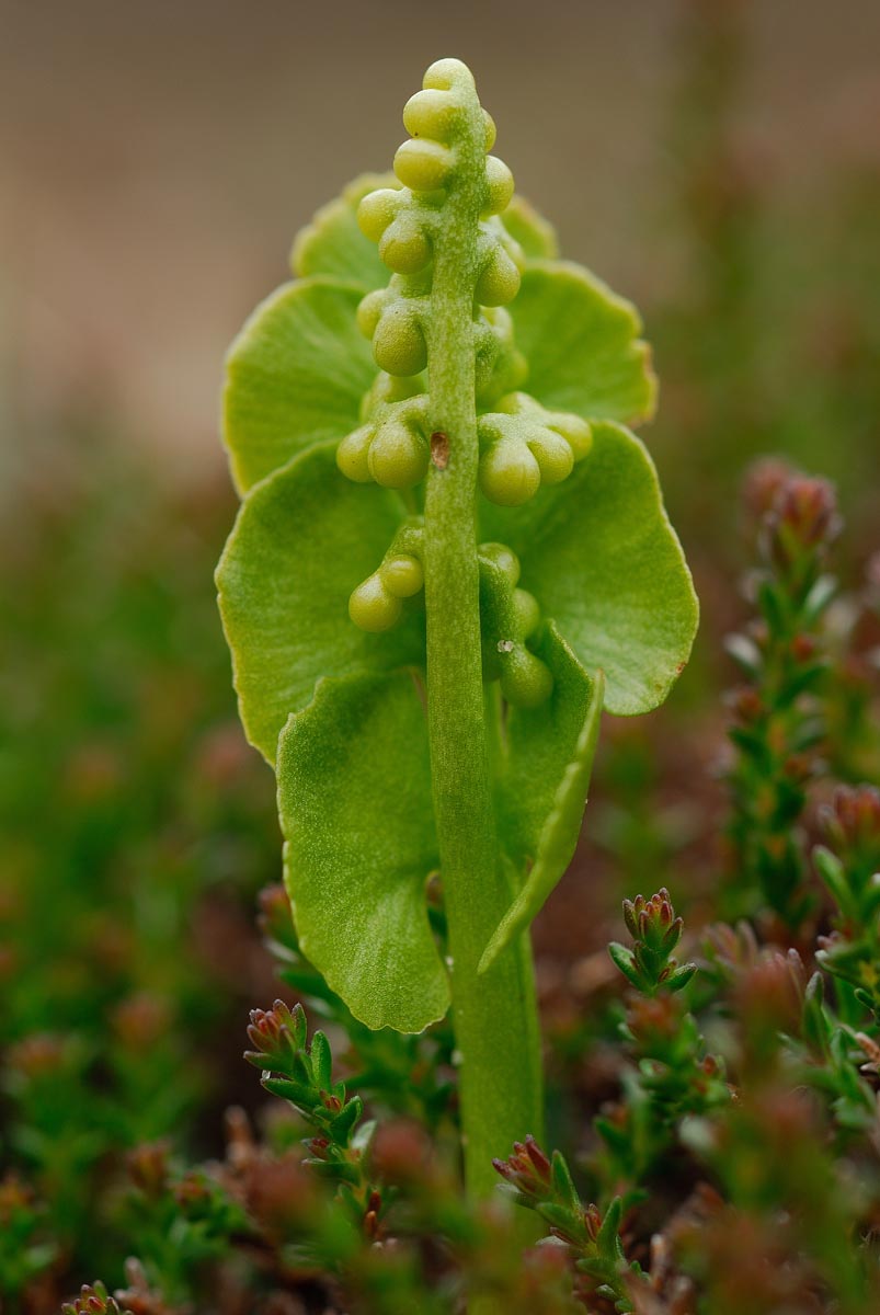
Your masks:
{"label": "thick upright green central stem of the fern", "polygon": [[452,1022],[468,1193],[485,1197],[505,1156],[541,1137],[541,1043],[527,934],[477,978],[514,892],[497,846],[480,656],[474,364],[484,126],[474,95],[434,251],[429,379],[435,460],[425,501],[428,725],[451,956]]}

